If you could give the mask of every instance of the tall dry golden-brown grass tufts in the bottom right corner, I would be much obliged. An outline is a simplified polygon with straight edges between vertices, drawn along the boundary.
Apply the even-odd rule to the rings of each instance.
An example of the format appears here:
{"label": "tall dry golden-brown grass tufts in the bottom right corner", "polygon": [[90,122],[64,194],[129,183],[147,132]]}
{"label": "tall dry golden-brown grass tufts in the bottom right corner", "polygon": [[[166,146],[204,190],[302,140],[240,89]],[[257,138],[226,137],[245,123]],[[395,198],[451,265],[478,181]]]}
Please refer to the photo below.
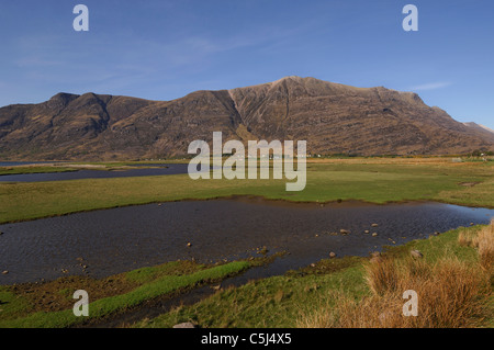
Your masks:
{"label": "tall dry golden-brown grass tufts in the bottom right corner", "polygon": [[[302,316],[300,327],[458,328],[475,327],[486,314],[490,274],[478,264],[444,258],[379,259],[366,267],[371,295],[361,301],[339,297],[336,307]],[[418,295],[418,316],[404,316],[403,292]]]}

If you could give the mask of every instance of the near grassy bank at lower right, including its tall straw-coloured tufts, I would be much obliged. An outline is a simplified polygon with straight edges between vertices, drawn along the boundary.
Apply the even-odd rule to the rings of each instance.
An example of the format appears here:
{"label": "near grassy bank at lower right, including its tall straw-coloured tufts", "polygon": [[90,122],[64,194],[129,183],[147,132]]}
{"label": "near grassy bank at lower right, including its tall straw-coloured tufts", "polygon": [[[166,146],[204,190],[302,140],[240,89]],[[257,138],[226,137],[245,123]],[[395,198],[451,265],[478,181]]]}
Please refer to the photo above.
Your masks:
{"label": "near grassy bank at lower right, including its tall straw-coloured tufts", "polygon": [[[483,244],[464,244],[465,235],[479,237],[482,230],[490,237]],[[493,327],[493,266],[482,262],[494,257],[493,238],[492,226],[475,226],[393,247],[373,260],[323,260],[220,291],[135,327],[182,321],[201,327]],[[412,259],[411,250],[419,250],[423,259]],[[418,293],[417,317],[402,315],[405,290]]]}

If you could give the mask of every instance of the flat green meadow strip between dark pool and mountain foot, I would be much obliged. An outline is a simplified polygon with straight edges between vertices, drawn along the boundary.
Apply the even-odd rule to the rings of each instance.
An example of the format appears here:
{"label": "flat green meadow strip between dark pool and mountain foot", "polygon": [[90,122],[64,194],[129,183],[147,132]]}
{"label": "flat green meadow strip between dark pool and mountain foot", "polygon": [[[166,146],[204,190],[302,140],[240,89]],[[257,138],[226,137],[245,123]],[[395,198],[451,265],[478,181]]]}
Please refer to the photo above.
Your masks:
{"label": "flat green meadow strip between dark pool and mountain foot", "polygon": [[187,174],[0,183],[0,223],[187,199],[259,195],[288,201],[439,201],[494,207],[494,165],[439,159],[326,159],[307,163],[304,191],[287,180],[191,180]]}

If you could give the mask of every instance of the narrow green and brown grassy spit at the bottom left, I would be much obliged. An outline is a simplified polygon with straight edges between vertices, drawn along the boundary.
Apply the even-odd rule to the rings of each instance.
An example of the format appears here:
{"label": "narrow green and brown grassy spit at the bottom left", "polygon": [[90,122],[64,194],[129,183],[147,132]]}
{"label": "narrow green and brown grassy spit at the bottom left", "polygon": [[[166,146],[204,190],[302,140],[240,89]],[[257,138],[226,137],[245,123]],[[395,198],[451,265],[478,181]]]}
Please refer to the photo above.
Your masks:
{"label": "narrow green and brown grassy spit at the bottom left", "polygon": [[[146,301],[221,281],[249,266],[246,261],[215,267],[190,261],[169,262],[104,280],[71,276],[41,285],[0,286],[0,328],[56,328],[94,321]],[[89,318],[74,315],[72,294],[77,290],[89,294]]]}

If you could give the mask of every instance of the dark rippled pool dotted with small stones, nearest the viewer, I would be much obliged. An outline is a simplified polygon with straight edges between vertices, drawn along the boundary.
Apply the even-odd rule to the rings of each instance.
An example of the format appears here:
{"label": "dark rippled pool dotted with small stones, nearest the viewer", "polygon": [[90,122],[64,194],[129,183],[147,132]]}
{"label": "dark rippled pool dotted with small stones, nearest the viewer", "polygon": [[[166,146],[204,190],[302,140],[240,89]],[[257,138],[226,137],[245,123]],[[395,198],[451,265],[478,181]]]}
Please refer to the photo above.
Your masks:
{"label": "dark rippled pool dotted with small stones, nearest the viewer", "polygon": [[440,203],[323,205],[246,197],[100,210],[0,225],[0,270],[9,271],[0,274],[0,284],[67,274],[102,278],[178,259],[231,261],[259,257],[265,246],[268,255],[287,251],[244,279],[268,276],[330,251],[367,256],[385,245],[487,224],[492,217],[494,210]]}

